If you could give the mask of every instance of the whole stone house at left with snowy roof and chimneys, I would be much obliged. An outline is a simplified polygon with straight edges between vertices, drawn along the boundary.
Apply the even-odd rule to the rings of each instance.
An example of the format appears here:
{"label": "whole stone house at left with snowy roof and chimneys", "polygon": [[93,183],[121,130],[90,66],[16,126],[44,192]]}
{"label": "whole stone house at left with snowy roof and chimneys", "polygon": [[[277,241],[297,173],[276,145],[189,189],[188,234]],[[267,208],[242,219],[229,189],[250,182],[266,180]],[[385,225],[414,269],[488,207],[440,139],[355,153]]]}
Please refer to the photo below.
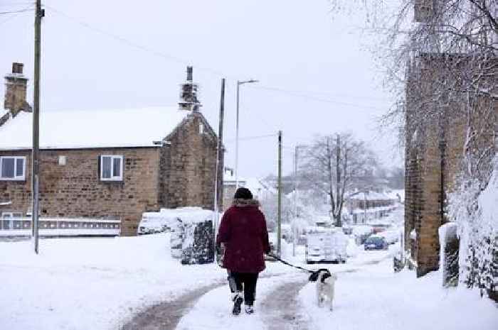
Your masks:
{"label": "whole stone house at left with snowy roof and chimneys", "polygon": [[[14,64],[0,111],[2,214],[31,209],[31,107]],[[191,67],[175,107],[41,111],[41,217],[121,219],[132,236],[144,211],[213,208],[216,133],[199,111]],[[0,214],[1,216],[1,214]]]}

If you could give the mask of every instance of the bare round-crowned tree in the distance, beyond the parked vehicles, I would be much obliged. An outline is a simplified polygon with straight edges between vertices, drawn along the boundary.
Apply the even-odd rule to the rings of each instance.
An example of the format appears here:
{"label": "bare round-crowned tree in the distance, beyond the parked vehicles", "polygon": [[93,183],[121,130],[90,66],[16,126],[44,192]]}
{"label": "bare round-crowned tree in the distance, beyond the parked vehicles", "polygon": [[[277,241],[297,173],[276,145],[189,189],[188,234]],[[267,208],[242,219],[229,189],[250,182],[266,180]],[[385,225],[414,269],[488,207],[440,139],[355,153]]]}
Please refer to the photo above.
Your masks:
{"label": "bare round-crowned tree in the distance, beyond the parked vehicles", "polygon": [[315,191],[327,195],[335,224],[342,226],[346,192],[363,187],[376,165],[364,142],[341,133],[317,137],[304,154],[300,173]]}

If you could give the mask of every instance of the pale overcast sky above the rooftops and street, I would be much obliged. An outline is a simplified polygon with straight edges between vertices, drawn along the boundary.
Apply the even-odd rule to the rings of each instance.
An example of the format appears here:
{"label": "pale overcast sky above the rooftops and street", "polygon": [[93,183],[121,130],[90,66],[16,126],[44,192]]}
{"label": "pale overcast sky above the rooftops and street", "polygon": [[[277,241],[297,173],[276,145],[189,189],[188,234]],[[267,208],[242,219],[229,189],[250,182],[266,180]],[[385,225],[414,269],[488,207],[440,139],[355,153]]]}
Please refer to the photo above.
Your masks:
{"label": "pale overcast sky above the rooftops and street", "polygon": [[[31,2],[0,0],[0,11]],[[396,138],[376,127],[390,102],[366,50],[374,42],[356,28],[363,16],[332,15],[327,0],[43,2],[41,111],[172,106],[191,64],[216,131],[227,79],[226,166],[235,163],[235,80],[260,80],[240,91],[242,177],[277,171],[279,129],[287,173],[294,145],[337,131],[367,141],[386,165],[401,164]],[[33,77],[33,12],[0,15],[0,73],[12,62]]]}

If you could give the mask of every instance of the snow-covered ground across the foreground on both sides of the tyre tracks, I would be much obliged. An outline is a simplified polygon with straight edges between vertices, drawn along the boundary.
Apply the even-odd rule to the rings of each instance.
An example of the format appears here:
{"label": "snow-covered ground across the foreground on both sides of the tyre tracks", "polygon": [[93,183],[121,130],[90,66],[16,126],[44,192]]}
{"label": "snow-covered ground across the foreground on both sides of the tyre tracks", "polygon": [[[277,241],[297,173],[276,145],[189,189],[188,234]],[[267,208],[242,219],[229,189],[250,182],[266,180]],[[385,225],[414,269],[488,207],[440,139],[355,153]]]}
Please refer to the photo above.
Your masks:
{"label": "snow-covered ground across the foreground on both sides of the tyre tracks", "polygon": [[[398,246],[368,252],[350,246],[351,258],[339,265],[306,265],[302,246],[295,257],[292,246],[282,246],[292,263],[338,273],[334,312],[315,306],[314,284],[306,285],[306,273],[268,262],[258,285],[257,314],[231,317],[223,285],[199,297],[176,329],[286,329],[292,320],[288,310],[299,310],[307,328],[317,330],[497,329],[497,306],[477,292],[443,290],[438,273],[418,280],[413,272],[394,274],[391,255]],[[34,255],[27,241],[0,242],[2,330],[120,329],[158,302],[226,282],[217,265],[185,266],[171,258],[169,234],[45,239],[40,251]],[[269,327],[265,301],[286,283],[287,289],[295,284],[300,290],[294,309],[283,303],[282,311],[273,311],[277,319],[282,313],[282,324]]]}

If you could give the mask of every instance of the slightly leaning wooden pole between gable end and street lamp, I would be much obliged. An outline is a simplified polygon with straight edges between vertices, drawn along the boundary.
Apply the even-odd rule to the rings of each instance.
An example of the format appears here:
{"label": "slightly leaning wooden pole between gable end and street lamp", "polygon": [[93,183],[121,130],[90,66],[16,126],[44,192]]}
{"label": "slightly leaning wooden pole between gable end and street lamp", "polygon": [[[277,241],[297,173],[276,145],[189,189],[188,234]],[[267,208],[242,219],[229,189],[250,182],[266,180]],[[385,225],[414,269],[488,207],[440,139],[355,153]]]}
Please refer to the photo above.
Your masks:
{"label": "slightly leaning wooden pole between gable end and street lamp", "polygon": [[[218,141],[216,143],[216,173],[214,180],[214,216],[213,245],[216,251],[216,234],[218,233],[219,211],[223,209],[223,117],[225,111],[225,78],[221,79],[220,123],[218,126]],[[215,253],[216,254],[216,253]],[[216,257],[215,257],[216,263]]]}

